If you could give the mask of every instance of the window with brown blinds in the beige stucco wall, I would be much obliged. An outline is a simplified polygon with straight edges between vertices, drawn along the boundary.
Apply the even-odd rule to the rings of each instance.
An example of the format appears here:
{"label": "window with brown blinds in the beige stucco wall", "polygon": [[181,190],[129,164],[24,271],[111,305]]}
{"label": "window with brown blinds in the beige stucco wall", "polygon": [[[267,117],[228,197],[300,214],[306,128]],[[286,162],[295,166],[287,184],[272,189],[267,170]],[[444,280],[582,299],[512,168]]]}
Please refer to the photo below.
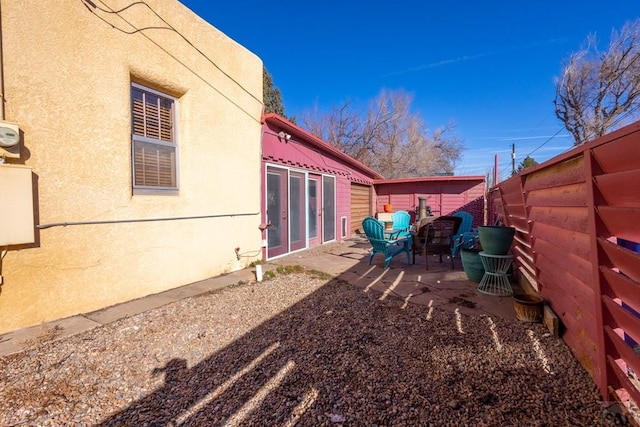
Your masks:
{"label": "window with brown blinds in the beige stucco wall", "polygon": [[131,85],[134,189],[178,189],[175,103],[169,96]]}

